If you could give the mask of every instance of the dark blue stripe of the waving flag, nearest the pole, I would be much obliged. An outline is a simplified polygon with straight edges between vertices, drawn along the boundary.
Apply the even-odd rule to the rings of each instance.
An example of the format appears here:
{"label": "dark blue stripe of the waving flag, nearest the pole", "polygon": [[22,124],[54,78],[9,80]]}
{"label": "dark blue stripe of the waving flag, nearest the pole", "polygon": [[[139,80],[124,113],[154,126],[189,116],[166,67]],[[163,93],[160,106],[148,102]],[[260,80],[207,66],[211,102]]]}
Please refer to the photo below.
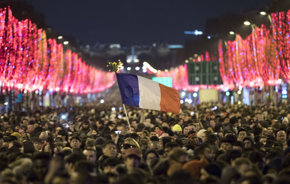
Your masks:
{"label": "dark blue stripe of the waving flag, nearest the pole", "polygon": [[139,107],[139,84],[136,75],[116,73],[122,103]]}

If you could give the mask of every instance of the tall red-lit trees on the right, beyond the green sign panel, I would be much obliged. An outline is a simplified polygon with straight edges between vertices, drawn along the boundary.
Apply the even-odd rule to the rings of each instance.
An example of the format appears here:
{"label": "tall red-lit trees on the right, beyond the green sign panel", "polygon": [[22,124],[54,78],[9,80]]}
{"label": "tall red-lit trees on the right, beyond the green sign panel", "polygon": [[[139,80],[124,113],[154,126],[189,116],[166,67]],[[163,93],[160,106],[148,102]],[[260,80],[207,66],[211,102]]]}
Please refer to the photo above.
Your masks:
{"label": "tall red-lit trees on the right, beyond the green sign panel", "polygon": [[[272,13],[273,27],[254,27],[242,39],[218,45],[220,73],[223,85],[257,87],[281,84],[290,80],[290,10]],[[225,51],[225,52],[224,52]]]}

